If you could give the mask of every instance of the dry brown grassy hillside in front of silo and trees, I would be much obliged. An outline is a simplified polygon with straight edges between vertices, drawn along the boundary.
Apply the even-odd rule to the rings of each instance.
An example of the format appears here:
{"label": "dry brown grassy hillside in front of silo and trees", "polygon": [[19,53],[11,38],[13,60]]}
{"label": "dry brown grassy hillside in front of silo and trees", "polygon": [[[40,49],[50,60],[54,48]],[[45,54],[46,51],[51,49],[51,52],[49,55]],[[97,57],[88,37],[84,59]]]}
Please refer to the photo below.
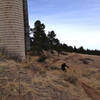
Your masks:
{"label": "dry brown grassy hillside in front of silo and trees", "polygon": [[0,100],[100,100],[100,56],[44,55],[19,63],[0,54]]}

